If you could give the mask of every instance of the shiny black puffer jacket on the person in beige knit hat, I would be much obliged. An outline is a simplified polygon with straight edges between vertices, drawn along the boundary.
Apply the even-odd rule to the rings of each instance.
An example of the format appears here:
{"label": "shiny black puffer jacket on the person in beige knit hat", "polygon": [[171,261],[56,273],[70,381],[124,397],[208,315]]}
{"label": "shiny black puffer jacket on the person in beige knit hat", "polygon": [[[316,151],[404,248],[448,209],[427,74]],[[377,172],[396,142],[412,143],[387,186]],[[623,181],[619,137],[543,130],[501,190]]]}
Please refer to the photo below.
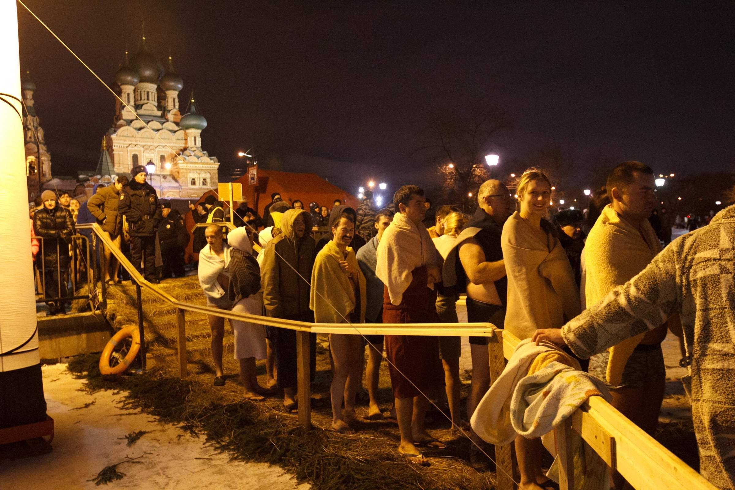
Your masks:
{"label": "shiny black puffer jacket on the person in beige knit hat", "polygon": [[33,228],[37,237],[43,237],[43,267],[56,267],[59,257],[64,267],[68,263],[71,236],[75,233],[71,213],[58,204],[54,209],[39,209],[33,216]]}

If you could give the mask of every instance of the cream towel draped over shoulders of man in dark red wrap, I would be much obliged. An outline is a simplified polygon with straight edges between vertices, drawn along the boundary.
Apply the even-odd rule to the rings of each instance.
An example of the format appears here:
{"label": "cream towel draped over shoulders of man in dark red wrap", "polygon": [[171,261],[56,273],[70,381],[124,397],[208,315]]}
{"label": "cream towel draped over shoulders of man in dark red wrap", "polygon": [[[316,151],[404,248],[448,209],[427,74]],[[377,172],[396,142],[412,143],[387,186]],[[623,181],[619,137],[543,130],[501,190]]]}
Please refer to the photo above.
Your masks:
{"label": "cream towel draped over shoulders of man in dark red wrap", "polygon": [[413,279],[412,270],[426,264],[442,267],[442,256],[434,247],[426,226],[423,223],[416,226],[400,212],[380,239],[377,255],[375,273],[388,287],[390,302],[394,305],[400,305],[404,299],[404,292]]}

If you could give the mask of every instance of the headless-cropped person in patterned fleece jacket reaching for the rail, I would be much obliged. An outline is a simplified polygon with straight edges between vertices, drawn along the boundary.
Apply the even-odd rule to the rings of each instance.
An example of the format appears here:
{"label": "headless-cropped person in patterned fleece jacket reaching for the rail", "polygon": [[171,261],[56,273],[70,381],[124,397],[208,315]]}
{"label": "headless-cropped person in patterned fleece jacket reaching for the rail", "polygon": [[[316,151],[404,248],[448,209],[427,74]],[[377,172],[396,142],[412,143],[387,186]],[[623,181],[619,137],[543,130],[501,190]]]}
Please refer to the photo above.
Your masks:
{"label": "headless-cropped person in patterned fleece jacket reaching for the rail", "polygon": [[735,489],[735,206],[679,237],[641,273],[558,328],[534,339],[589,357],[653,331],[679,314],[692,377],[692,419],[700,472]]}

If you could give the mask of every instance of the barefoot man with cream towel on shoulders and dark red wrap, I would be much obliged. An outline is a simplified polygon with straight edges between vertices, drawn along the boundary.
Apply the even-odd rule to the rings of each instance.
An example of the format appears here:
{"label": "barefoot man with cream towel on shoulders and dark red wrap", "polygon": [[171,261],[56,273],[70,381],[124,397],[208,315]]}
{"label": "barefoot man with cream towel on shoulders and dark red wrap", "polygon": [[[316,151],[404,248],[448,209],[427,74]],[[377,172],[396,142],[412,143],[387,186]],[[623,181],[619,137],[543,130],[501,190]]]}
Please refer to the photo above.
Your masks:
{"label": "barefoot man with cream towel on shoulders and dark red wrap", "polygon": [[[442,257],[422,221],[423,190],[401,187],[393,195],[398,213],[378,245],[376,275],[385,284],[383,323],[438,323],[435,308]],[[444,387],[436,336],[385,336],[390,381],[395,397],[401,444],[398,452],[418,464],[426,459],[417,445],[443,448],[424,428],[429,400],[421,392]],[[409,381],[410,380],[410,381]]]}

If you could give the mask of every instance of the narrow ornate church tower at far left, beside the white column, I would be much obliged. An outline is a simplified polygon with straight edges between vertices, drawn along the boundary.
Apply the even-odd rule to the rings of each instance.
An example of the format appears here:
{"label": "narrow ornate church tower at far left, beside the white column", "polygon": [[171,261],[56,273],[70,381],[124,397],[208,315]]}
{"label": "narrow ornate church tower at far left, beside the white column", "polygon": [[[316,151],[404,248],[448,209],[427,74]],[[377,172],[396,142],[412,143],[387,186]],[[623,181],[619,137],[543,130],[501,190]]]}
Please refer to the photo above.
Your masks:
{"label": "narrow ornate church tower at far left, beside the white column", "polygon": [[25,79],[21,82],[21,92],[23,93],[24,103],[23,134],[24,144],[26,145],[26,176],[30,198],[38,195],[40,186],[51,180],[51,154],[43,141],[43,129],[41,129],[36,109],[33,106],[35,90],[36,84],[31,81],[30,75],[26,71]]}

